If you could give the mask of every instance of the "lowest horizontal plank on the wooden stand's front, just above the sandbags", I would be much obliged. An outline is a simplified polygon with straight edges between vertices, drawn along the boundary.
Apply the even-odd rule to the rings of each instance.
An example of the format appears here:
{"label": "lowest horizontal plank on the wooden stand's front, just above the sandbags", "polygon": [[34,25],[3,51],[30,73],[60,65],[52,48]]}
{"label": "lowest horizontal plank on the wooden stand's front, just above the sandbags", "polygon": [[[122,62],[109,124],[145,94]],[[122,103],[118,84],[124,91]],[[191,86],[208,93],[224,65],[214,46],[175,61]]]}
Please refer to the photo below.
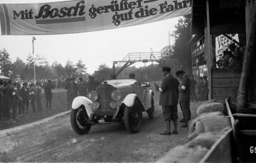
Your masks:
{"label": "lowest horizontal plank on the wooden stand's front, just above the sandbags", "polygon": [[213,96],[236,96],[238,88],[213,88]]}

